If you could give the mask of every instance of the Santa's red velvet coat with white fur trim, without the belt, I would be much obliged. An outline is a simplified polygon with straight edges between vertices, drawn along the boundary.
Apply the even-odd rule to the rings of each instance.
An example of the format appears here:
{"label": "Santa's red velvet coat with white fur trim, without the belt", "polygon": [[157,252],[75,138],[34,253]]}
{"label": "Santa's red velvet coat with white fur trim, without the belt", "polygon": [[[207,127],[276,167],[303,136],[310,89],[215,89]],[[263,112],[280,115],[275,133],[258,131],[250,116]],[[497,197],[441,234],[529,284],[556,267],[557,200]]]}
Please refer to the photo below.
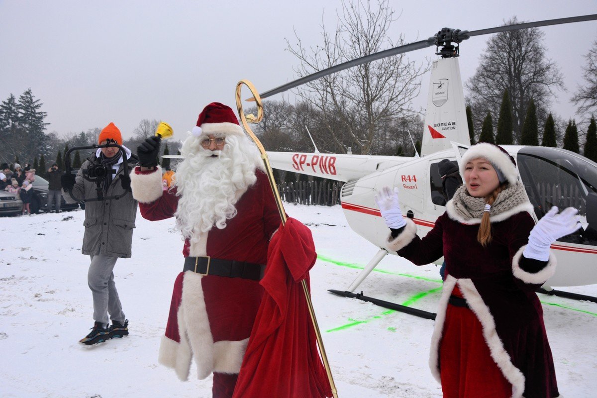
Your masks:
{"label": "Santa's red velvet coat with white fur trim, without the belt", "polygon": [[[139,178],[147,173],[136,174]],[[238,214],[227,220],[226,228],[213,227],[207,233],[208,256],[266,264],[269,240],[280,217],[267,176],[261,171],[256,175],[257,182],[236,203]],[[164,191],[150,203],[140,202],[141,214],[152,221],[173,217],[178,199],[175,190]],[[183,255],[189,256],[188,240]],[[174,368],[181,380],[187,380],[193,356],[199,378],[211,372],[238,374],[262,295],[256,280],[181,272],[174,284],[160,362]],[[214,389],[218,384],[214,379]]]}

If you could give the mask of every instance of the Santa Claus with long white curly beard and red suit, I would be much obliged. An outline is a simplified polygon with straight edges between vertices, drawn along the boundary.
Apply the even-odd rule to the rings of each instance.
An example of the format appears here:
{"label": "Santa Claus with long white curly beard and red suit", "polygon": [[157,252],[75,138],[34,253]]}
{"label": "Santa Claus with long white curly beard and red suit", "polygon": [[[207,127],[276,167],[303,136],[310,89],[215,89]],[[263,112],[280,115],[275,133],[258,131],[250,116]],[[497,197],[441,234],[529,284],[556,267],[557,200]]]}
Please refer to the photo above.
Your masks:
{"label": "Santa Claus with long white curly beard and red suit", "polygon": [[280,217],[259,151],[232,109],[211,103],[184,141],[173,186],[162,190],[159,137],[137,149],[133,196],[147,220],[176,217],[184,269],[174,292],[159,362],[187,380],[212,372],[213,396],[231,397],[263,295],[259,280]]}

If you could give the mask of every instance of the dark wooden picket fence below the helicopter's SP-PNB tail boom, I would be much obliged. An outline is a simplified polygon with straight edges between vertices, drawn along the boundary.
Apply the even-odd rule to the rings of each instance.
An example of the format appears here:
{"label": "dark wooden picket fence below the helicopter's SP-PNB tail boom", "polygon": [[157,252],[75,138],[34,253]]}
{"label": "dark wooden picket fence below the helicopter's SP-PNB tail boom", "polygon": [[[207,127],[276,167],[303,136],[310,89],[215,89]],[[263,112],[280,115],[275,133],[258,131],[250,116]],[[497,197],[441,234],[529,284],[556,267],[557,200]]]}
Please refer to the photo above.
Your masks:
{"label": "dark wooden picket fence below the helicopter's SP-PNB tail boom", "polygon": [[278,184],[282,200],[301,205],[333,206],[340,204],[340,181],[294,181]]}

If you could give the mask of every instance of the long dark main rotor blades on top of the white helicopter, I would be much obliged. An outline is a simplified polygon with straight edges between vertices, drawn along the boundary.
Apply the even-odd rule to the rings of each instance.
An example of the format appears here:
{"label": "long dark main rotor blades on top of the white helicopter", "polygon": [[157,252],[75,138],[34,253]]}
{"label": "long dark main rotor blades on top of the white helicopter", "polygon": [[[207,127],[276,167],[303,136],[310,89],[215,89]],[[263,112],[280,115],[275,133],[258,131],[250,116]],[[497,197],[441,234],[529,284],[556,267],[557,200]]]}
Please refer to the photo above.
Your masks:
{"label": "long dark main rotor blades on top of the white helicopter", "polygon": [[[498,33],[498,32],[507,32],[509,30],[518,30],[518,29],[528,29],[530,27],[540,27],[540,26],[549,26],[549,25],[558,25],[564,23],[573,23],[573,22],[583,22],[583,21],[591,21],[597,20],[597,14],[591,14],[586,16],[579,16],[579,17],[568,17],[568,18],[558,18],[552,20],[544,20],[544,21],[537,21],[537,22],[527,22],[527,23],[518,23],[513,25],[506,25],[506,26],[497,26],[491,27],[489,29],[480,29],[480,30],[473,30],[471,32],[467,30],[457,30],[454,31],[455,35],[453,36],[452,40],[456,42],[461,42],[470,38],[471,36],[481,36],[481,35],[489,35],[491,33]],[[346,61],[341,64],[334,65],[324,70],[319,70],[318,72],[312,73],[308,76],[303,76],[300,79],[292,81],[287,84],[283,84],[279,87],[273,88],[272,90],[265,91],[260,95],[261,98],[271,97],[272,95],[279,94],[280,92],[284,92],[290,90],[291,88],[295,88],[305,83],[309,83],[315,79],[323,78],[324,76],[331,75],[331,73],[340,72],[341,70],[348,69],[353,66],[358,66],[360,64],[364,64],[367,62],[375,61],[381,58],[390,57],[391,55],[398,55],[408,53],[409,51],[420,50],[421,48],[430,47],[432,45],[442,45],[439,44],[439,35],[441,31],[437,33],[435,36],[431,36],[429,39],[421,40],[417,42],[413,42],[410,44],[401,45],[398,47],[390,48],[389,50],[380,51],[379,53],[374,53],[370,55],[365,55],[361,58],[356,58],[351,61]],[[251,98],[248,101],[253,100]]]}

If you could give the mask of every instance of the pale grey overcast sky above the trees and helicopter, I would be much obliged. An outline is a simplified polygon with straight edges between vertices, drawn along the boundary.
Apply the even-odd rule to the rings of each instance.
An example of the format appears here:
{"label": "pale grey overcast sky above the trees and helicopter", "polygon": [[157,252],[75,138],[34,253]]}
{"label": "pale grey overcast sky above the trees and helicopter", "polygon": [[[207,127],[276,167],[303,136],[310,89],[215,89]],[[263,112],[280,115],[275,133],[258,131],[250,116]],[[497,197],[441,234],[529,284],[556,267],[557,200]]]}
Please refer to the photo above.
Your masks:
{"label": "pale grey overcast sky above the trees and helicopter", "polygon": [[[220,101],[236,109],[235,87],[249,79],[264,92],[294,79],[297,59],[285,38],[321,43],[321,23],[335,26],[340,0],[21,1],[0,0],[0,100],[31,88],[60,135],[104,127],[125,138],[141,119],[170,123],[184,138],[201,109]],[[597,13],[595,0],[390,1],[398,20],[392,37],[405,42],[442,27],[478,30],[522,21]],[[456,7],[455,4],[459,4]],[[552,106],[574,118],[568,98],[582,82],[583,55],[597,39],[597,21],[541,28],[548,56],[568,92]],[[488,36],[460,48],[463,81],[473,75]],[[435,47],[409,53],[435,58]],[[425,107],[429,76],[416,107]],[[244,90],[244,98],[248,90]],[[465,92],[466,95],[466,92]],[[271,97],[281,100],[281,95]],[[250,105],[246,104],[245,107]],[[576,116],[577,117],[577,116]]]}

